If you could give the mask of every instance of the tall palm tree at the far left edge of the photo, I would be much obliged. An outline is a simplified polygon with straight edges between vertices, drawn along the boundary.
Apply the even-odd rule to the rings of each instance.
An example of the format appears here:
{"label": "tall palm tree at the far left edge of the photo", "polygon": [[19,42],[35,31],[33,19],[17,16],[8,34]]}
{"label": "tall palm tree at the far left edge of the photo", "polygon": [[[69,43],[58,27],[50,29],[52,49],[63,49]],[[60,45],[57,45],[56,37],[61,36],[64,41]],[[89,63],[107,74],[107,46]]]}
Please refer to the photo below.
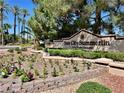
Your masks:
{"label": "tall palm tree at the far left edge of the photo", "polygon": [[0,30],[1,30],[1,40],[2,40],[2,45],[4,44],[4,33],[3,33],[3,17],[4,17],[4,12],[9,11],[9,5],[4,2],[4,0],[0,0]]}

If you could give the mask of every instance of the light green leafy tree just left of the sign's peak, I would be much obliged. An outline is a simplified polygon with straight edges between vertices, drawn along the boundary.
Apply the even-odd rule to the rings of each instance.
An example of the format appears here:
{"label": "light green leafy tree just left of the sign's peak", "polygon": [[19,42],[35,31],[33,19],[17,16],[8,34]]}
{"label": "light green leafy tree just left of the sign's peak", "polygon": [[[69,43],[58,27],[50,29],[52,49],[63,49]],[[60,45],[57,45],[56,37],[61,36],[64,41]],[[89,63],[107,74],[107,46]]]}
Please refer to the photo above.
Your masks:
{"label": "light green leafy tree just left of the sign's peak", "polygon": [[[35,15],[28,21],[35,33],[37,44],[39,40],[49,39],[51,32],[56,33],[57,18],[70,8],[69,0],[38,0]],[[71,0],[70,0],[71,1]],[[50,36],[49,36],[50,35]],[[53,37],[52,37],[53,38]]]}

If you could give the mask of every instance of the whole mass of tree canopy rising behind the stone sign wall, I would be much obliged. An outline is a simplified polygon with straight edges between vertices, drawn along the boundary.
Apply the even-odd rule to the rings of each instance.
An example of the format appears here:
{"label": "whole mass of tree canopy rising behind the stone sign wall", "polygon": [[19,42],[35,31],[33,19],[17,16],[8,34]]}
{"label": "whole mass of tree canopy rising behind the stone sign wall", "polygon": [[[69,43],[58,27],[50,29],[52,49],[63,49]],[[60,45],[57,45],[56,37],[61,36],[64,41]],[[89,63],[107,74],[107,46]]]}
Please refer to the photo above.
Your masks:
{"label": "whole mass of tree canopy rising behind the stone sign wall", "polygon": [[95,34],[123,33],[123,0],[33,0],[28,25],[39,39],[68,37],[80,29]]}

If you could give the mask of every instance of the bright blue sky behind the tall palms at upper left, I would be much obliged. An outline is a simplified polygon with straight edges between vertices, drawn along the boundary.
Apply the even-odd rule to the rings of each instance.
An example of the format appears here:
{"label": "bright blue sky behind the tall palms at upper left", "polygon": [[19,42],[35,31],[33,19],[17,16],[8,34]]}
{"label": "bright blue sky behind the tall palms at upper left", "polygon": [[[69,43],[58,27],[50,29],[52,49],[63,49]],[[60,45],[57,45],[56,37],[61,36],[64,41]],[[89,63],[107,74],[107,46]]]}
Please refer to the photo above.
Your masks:
{"label": "bright blue sky behind the tall palms at upper left", "polygon": [[[33,15],[33,8],[35,7],[35,5],[32,3],[32,0],[4,0],[4,1],[5,3],[9,4],[10,7],[17,5],[19,8],[27,9],[30,14],[28,17],[26,17],[27,20]],[[10,23],[12,25],[12,29],[10,29],[9,32],[13,33],[14,16],[12,12],[5,15],[8,18],[4,20],[4,23]]]}

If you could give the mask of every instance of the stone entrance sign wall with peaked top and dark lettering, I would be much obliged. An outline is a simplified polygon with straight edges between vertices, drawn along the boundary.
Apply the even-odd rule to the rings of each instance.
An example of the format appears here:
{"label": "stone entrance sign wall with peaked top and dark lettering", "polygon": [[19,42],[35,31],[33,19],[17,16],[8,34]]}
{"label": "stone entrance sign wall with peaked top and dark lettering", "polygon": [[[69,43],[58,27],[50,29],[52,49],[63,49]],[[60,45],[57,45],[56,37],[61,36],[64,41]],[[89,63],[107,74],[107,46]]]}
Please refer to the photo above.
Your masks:
{"label": "stone entrance sign wall with peaked top and dark lettering", "polygon": [[[81,38],[83,35],[83,38]],[[81,44],[81,42],[90,42],[90,44]],[[65,44],[70,42],[70,44]],[[91,44],[96,42],[96,44]],[[124,51],[124,37],[116,35],[101,36],[93,34],[91,31],[81,30],[71,37],[54,40],[53,48],[82,48],[86,50],[98,51]]]}

